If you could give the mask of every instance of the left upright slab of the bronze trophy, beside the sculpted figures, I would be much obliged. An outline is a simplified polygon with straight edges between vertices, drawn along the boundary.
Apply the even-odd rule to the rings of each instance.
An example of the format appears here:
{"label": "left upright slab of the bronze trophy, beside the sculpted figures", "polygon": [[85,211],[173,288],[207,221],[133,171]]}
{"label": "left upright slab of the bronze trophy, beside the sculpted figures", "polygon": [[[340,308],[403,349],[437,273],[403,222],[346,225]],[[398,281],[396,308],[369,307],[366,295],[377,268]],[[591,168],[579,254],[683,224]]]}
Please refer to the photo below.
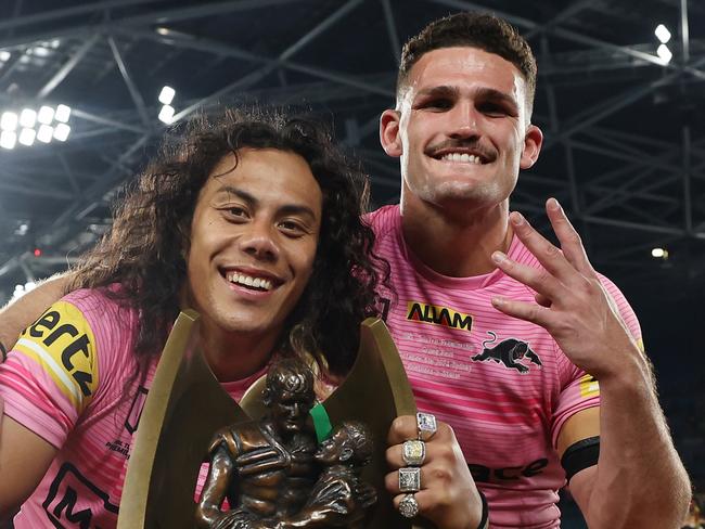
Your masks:
{"label": "left upright slab of the bronze trophy, beside the sculpted figures", "polygon": [[162,352],[130,453],[118,529],[192,529],[213,434],[249,421],[197,348],[198,318],[181,312]]}

